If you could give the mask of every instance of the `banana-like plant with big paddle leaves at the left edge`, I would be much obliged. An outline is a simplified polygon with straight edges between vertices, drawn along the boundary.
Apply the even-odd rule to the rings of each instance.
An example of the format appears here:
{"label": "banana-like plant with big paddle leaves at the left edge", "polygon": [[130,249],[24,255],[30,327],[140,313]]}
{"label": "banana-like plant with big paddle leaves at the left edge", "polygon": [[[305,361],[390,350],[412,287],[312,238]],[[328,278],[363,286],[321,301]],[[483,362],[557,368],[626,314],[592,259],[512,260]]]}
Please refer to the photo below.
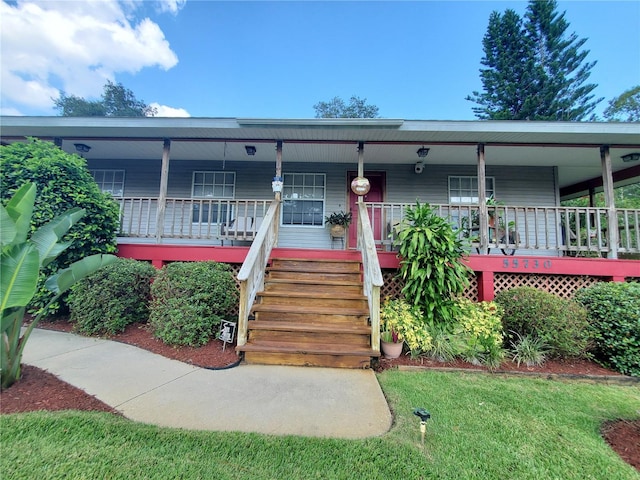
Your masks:
{"label": "banana-like plant with big paddle leaves at the left edge", "polygon": [[[22,352],[42,315],[37,315],[21,336],[25,310],[36,294],[40,271],[71,246],[71,242],[63,242],[61,239],[85,214],[80,208],[71,209],[29,235],[35,201],[36,186],[26,183],[18,189],[6,207],[0,205],[2,388],[8,388],[20,378]],[[92,255],[50,276],[45,282],[53,294],[49,302],[55,302],[75,282],[115,259],[113,255]]]}

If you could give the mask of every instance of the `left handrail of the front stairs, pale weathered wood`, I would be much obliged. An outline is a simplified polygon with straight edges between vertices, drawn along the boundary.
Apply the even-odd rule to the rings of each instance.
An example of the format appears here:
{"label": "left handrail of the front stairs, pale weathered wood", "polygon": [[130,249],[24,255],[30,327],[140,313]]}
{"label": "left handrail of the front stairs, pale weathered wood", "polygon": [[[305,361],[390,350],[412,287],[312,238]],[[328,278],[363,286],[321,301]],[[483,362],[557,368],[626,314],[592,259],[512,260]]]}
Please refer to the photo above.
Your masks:
{"label": "left handrail of the front stairs, pale weathered wood", "polygon": [[271,256],[271,250],[278,243],[278,221],[280,200],[275,199],[269,205],[264,221],[256,232],[249,253],[240,267],[237,279],[240,284],[240,303],[238,306],[237,345],[247,343],[247,330],[251,306],[260,290],[264,289],[264,272]]}

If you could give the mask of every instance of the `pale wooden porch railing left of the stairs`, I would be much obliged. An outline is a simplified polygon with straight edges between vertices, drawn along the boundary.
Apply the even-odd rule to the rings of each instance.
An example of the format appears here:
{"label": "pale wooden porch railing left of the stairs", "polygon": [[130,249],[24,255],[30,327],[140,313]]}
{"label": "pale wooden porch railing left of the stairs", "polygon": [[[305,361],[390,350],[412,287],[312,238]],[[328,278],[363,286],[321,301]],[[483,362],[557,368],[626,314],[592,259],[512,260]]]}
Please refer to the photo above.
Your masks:
{"label": "pale wooden porch railing left of the stairs", "polygon": [[[158,199],[124,197],[120,203],[123,237],[157,236]],[[271,200],[167,198],[160,238],[253,240]]]}

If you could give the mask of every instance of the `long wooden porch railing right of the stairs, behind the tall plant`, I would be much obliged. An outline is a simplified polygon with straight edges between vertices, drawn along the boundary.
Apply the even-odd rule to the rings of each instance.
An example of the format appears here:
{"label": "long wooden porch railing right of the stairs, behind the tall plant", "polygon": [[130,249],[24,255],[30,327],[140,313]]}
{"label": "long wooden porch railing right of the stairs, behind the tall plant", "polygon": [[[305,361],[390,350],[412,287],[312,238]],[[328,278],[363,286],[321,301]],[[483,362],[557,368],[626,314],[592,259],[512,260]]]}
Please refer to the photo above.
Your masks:
{"label": "long wooden porch railing right of the stairs, behind the tall plant", "polygon": [[[378,246],[392,248],[409,203],[366,203]],[[640,209],[616,209],[617,232],[608,231],[608,210],[591,207],[487,205],[488,242],[480,242],[477,205],[431,204],[447,218],[470,247],[505,251],[562,251],[568,255],[607,254],[612,238],[623,253],[640,252]],[[377,222],[377,223],[376,223]]]}

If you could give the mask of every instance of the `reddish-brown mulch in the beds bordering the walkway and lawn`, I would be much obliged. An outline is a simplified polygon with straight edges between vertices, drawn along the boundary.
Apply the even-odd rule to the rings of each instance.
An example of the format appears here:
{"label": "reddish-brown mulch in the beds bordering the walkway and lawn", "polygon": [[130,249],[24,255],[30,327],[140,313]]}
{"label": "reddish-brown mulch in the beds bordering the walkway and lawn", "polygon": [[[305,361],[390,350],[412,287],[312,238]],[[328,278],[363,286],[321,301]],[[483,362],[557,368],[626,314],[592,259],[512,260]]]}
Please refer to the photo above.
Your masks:
{"label": "reddish-brown mulch in the beds bordering the walkway and lawn", "polygon": [[[44,322],[41,328],[69,332],[71,324],[66,320]],[[204,347],[170,347],[153,338],[146,325],[130,325],[112,340],[135,345],[168,358],[179,360],[205,368],[224,368],[238,362],[235,346],[229,344],[223,351],[223,343],[212,340]],[[465,368],[484,370],[484,367],[474,366],[462,361],[439,363],[428,359],[412,360],[408,356],[398,359],[380,359],[376,370],[406,366],[423,366],[432,368]],[[568,374],[616,376],[617,372],[606,369],[587,360],[547,361],[541,367],[518,367],[515,363],[503,363],[500,371],[517,371],[538,374]],[[95,410],[103,412],[118,412],[97,398],[73,387],[56,376],[39,368],[25,365],[22,368],[22,378],[4,391],[0,391],[0,413],[28,412],[33,410]],[[618,455],[627,463],[640,470],[640,420],[618,420],[608,422],[603,426],[602,435]]]}

